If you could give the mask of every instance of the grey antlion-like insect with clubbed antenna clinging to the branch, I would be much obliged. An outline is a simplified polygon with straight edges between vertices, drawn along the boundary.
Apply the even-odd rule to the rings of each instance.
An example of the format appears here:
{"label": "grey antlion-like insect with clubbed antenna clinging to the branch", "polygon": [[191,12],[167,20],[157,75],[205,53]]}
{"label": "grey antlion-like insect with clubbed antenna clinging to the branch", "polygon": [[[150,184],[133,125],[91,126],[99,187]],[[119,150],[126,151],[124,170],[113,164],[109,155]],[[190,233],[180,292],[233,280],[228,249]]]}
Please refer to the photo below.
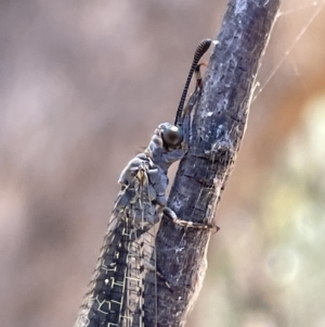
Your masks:
{"label": "grey antlion-like insect with clubbed antenna clinging to the branch", "polygon": [[[154,271],[155,278],[164,278],[156,268],[153,255],[153,227],[165,215],[186,228],[210,228],[179,219],[167,206],[166,199],[167,171],[172,163],[182,159],[188,146],[191,109],[183,110],[187,89],[194,71],[199,76],[198,61],[210,43],[211,40],[206,39],[197,47],[174,125],[160,124],[147,148],[121,172],[118,180],[121,189],[113,209],[90,291],[75,327],[144,327],[146,310],[157,310],[156,305],[145,307],[144,276]],[[199,81],[200,76],[197,78],[197,88],[200,87]]]}

